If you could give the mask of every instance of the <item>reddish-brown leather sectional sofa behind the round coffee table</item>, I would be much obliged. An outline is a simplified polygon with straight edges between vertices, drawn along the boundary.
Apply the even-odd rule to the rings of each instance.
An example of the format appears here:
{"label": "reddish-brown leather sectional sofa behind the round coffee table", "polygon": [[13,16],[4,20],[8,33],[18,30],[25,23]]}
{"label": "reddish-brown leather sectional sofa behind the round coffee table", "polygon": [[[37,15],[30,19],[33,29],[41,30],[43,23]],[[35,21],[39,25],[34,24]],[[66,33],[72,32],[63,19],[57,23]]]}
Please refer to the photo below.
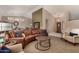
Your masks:
{"label": "reddish-brown leather sectional sofa behind the round coffee table", "polygon": [[35,40],[35,37],[40,35],[40,30],[38,29],[25,29],[23,30],[25,37],[15,37],[15,32],[11,31],[8,34],[8,40],[16,41],[16,43],[22,43],[22,47],[24,48],[27,44]]}

